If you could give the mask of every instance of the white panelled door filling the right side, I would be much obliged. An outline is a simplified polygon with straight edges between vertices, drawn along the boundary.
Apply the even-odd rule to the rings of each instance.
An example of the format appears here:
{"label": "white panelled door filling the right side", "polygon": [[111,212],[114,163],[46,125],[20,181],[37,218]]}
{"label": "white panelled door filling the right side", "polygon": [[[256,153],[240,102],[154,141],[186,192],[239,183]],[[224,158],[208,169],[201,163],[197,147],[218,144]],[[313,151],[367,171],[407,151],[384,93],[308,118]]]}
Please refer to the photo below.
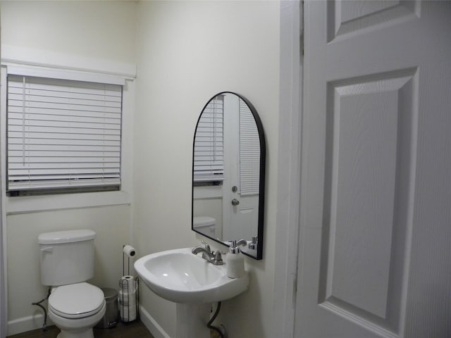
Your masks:
{"label": "white panelled door filling the right side", "polygon": [[306,1],[295,337],[451,337],[451,1]]}

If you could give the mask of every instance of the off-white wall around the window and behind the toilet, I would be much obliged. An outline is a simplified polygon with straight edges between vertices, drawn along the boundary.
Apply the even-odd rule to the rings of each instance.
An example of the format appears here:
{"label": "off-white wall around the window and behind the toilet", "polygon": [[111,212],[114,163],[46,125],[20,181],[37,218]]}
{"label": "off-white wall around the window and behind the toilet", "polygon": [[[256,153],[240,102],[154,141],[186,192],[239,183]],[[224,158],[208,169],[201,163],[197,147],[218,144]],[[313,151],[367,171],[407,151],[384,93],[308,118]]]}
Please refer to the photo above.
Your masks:
{"label": "off-white wall around the window and behind the toilet", "polygon": [[[0,6],[2,58],[70,63],[73,68],[91,70],[101,65],[102,71],[111,65],[125,65],[125,70],[134,67],[135,2],[1,1]],[[133,86],[128,82],[126,91]],[[132,106],[132,102],[128,104],[128,110]],[[132,112],[127,114],[126,125],[132,122]],[[125,151],[131,153],[130,142],[127,144]],[[131,154],[125,157],[131,158]],[[1,179],[4,182],[4,177]],[[125,197],[118,199],[121,205],[111,206],[99,203],[102,198],[92,194],[78,194],[78,199],[70,195],[56,200],[28,199],[27,204],[15,206],[14,213],[13,204],[7,201],[8,334],[42,326],[42,311],[31,305],[47,292],[39,276],[37,235],[41,232],[80,228],[97,232],[92,282],[100,287],[117,287],[122,275],[122,244],[130,242],[132,218],[130,194],[122,195]],[[78,203],[75,208],[75,201],[84,201],[85,206]],[[57,204],[59,210],[55,209]],[[40,210],[28,212],[27,208]]]}

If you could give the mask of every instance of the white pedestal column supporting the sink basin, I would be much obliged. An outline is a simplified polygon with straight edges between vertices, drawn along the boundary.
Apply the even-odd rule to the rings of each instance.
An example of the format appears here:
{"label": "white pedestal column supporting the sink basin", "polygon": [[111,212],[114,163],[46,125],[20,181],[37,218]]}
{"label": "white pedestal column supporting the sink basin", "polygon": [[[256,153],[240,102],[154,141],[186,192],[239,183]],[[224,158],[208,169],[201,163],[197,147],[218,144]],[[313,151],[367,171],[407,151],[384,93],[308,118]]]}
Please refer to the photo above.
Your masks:
{"label": "white pedestal column supporting the sink basin", "polygon": [[211,303],[177,303],[176,338],[210,338]]}

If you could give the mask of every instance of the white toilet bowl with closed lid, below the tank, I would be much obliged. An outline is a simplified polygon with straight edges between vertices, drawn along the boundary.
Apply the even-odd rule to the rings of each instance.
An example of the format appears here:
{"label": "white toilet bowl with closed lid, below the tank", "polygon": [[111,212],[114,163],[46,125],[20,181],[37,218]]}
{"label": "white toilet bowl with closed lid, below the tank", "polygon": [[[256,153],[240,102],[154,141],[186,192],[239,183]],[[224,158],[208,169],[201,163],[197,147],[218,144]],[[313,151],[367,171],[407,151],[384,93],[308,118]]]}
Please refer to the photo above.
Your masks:
{"label": "white toilet bowl with closed lid, below the tank", "polygon": [[92,327],[106,312],[104,293],[86,282],[51,290],[49,318],[61,332],[57,338],[94,338]]}

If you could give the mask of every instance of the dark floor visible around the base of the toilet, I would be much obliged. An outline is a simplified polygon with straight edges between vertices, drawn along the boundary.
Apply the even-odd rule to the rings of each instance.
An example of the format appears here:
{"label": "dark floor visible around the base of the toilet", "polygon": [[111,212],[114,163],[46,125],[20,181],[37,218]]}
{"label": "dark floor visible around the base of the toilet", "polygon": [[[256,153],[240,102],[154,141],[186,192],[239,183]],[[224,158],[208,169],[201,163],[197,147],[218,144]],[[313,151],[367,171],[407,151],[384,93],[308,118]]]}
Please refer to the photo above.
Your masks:
{"label": "dark floor visible around the base of the toilet", "polygon": [[[59,329],[55,326],[47,327],[46,331],[32,330],[20,334],[14,334],[7,338],[56,338]],[[147,328],[139,320],[131,323],[118,323],[110,329],[97,329],[94,327],[95,338],[154,338]]]}

